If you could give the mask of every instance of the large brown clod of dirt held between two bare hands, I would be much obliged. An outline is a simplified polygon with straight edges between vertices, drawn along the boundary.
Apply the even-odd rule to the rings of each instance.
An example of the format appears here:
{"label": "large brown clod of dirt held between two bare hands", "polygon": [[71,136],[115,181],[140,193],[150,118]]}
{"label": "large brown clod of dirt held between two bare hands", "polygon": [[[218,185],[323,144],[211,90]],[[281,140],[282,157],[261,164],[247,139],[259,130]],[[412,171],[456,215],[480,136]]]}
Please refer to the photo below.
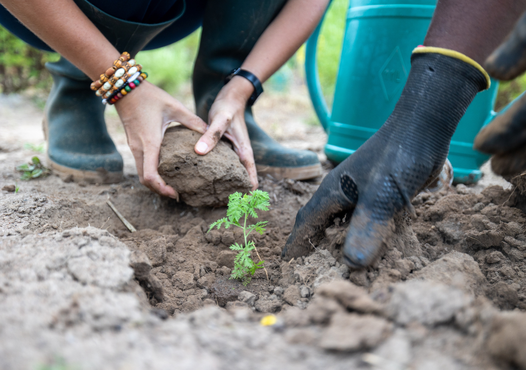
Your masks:
{"label": "large brown clod of dirt held between two bare hands", "polygon": [[183,126],[166,131],[159,153],[159,174],[186,204],[194,207],[224,206],[234,192],[252,188],[247,170],[231,146],[219,141],[207,155],[194,146],[201,135]]}

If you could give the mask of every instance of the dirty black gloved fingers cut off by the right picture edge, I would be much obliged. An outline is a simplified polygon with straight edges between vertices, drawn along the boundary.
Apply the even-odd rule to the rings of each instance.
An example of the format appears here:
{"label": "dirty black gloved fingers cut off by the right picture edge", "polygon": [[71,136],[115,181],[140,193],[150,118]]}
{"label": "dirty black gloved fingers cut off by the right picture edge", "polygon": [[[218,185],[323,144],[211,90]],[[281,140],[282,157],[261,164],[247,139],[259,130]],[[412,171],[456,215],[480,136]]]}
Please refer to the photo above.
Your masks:
{"label": "dirty black gloved fingers cut off by the right picture edge", "polygon": [[[488,57],[485,68],[500,80],[514,79],[526,70],[526,13]],[[494,154],[491,166],[499,175],[509,178],[526,171],[526,94],[484,126],[473,147]]]}

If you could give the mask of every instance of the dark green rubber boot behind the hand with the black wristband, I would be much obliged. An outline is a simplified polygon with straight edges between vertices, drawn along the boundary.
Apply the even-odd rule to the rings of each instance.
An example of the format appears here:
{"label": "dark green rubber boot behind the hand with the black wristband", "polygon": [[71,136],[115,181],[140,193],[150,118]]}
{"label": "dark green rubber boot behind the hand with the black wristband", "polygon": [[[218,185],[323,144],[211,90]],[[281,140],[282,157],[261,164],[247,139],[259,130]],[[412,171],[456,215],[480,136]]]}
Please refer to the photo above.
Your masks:
{"label": "dark green rubber boot behind the hand with the black wristband", "polygon": [[[224,86],[225,77],[239,68],[259,36],[272,22],[286,0],[209,1],[194,68],[194,96],[197,115],[208,121],[208,111]],[[288,149],[270,138],[245,112],[250,143],[258,174],[297,180],[321,175],[316,153]]]}

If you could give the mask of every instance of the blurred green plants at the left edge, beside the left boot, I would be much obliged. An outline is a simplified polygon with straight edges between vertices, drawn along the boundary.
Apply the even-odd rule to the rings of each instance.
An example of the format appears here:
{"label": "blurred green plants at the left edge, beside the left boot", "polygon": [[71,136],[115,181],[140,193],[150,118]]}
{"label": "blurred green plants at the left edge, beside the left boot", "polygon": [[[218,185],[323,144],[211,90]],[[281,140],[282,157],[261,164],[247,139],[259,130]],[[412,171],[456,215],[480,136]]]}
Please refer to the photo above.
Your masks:
{"label": "blurred green plants at the left edge, beside the left boot", "polygon": [[58,55],[35,49],[0,26],[0,92],[9,94],[28,87],[49,89],[52,84],[47,61]]}

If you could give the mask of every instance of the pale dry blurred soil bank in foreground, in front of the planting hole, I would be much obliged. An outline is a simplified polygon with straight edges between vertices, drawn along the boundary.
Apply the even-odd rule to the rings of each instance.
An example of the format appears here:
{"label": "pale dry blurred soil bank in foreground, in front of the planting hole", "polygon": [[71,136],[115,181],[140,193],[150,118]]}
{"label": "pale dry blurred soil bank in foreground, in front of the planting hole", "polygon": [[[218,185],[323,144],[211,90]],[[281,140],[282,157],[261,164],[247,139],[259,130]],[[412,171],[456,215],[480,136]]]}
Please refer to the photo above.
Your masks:
{"label": "pale dry blurred soil bank in foreground, in front of the planting hole", "polygon": [[[501,313],[469,288],[418,278],[370,294],[339,276],[327,250],[294,269],[314,265],[331,282],[275,287],[274,299],[240,291],[226,310],[205,299],[203,308],[168,319],[147,304],[133,279],[148,276],[147,254],[163,249],[154,232],[143,234],[155,243],[131,253],[93,227],[2,237],[0,367],[168,369],[174,361],[181,369],[524,366],[524,313]],[[455,266],[458,274],[470,273]],[[196,283],[191,274],[176,276],[181,289]],[[311,302],[304,306],[307,293]],[[286,309],[262,326],[258,306],[273,300]]]}

